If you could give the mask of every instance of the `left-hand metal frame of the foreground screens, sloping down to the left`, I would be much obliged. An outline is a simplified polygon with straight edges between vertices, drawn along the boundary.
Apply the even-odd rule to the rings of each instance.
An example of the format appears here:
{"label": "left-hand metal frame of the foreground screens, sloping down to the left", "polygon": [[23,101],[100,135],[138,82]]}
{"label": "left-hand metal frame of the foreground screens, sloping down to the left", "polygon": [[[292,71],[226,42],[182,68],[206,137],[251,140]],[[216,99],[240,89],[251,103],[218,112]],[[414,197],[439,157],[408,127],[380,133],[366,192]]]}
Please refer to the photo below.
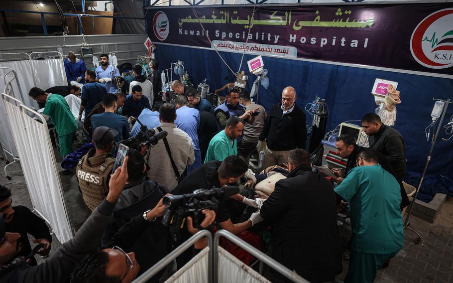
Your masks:
{"label": "left-hand metal frame of the foreground screens, sloping down to the left", "polygon": [[201,238],[207,237],[208,238],[208,247],[210,247],[209,251],[209,260],[208,260],[208,279],[209,282],[213,282],[213,261],[212,261],[212,256],[213,256],[213,235],[211,232],[208,230],[202,230],[198,232],[197,234],[193,235],[192,237],[189,238],[186,242],[182,243],[178,248],[176,248],[173,252],[168,254],[165,258],[161,259],[158,263],[156,263],[154,266],[152,266],[150,269],[148,269],[145,273],[140,275],[137,279],[133,281],[133,283],[145,283],[147,282],[151,277],[156,275],[159,271],[167,267],[168,264],[170,264],[173,260],[175,260],[177,257],[179,257],[182,253],[184,253],[186,250],[192,248],[192,246]]}

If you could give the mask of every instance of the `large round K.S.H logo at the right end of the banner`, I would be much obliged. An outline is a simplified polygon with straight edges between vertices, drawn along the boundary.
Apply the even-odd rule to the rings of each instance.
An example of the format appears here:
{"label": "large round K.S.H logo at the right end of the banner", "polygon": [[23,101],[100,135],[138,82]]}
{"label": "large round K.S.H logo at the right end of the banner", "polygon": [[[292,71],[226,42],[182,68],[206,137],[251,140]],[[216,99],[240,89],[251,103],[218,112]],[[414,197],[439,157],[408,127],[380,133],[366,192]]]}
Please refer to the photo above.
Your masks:
{"label": "large round K.S.H logo at the right end of the banner", "polygon": [[453,8],[424,18],[411,37],[411,52],[421,65],[431,69],[453,66]]}

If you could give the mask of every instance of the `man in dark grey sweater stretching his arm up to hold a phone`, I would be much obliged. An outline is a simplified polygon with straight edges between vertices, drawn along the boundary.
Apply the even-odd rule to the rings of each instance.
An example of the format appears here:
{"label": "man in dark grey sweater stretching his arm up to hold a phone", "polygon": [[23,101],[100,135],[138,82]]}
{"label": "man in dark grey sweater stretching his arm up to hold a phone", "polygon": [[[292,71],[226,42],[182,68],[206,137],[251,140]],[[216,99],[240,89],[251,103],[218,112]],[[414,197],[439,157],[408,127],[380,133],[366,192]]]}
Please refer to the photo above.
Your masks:
{"label": "man in dark grey sweater stretching his arm up to hold a phone", "polygon": [[73,239],[64,243],[44,263],[30,267],[17,257],[21,246],[20,234],[5,233],[0,220],[0,283],[48,283],[67,282],[74,267],[89,253],[98,250],[109,217],[113,213],[124,184],[127,180],[127,157],[116,169],[109,182],[107,198],[96,208]]}

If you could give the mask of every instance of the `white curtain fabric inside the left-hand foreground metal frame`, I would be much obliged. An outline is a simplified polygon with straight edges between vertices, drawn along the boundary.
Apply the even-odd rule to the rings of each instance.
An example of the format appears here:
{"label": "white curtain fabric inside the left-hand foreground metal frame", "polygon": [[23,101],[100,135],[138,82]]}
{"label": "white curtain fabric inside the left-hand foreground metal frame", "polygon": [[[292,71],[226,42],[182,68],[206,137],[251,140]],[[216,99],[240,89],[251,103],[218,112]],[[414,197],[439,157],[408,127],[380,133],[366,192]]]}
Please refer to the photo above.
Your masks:
{"label": "white curtain fabric inside the left-hand foreground metal frame", "polygon": [[209,247],[203,249],[165,283],[208,283]]}

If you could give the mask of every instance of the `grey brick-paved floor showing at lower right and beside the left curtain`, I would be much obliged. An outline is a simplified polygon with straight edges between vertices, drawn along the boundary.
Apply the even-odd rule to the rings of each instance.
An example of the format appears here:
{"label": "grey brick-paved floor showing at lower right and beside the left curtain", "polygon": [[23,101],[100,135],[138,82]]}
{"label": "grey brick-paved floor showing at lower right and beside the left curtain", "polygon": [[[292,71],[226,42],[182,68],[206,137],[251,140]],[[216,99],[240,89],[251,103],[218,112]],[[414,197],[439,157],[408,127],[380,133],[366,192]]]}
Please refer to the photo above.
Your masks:
{"label": "grey brick-paved floor showing at lower right and beside the left curtain", "polygon": [[[3,156],[2,152],[0,156]],[[57,156],[57,162],[61,162],[57,150],[55,150],[55,156]],[[0,160],[0,184],[11,189],[13,205],[23,205],[32,209],[20,164],[16,162],[7,167],[11,180],[4,177],[4,165],[5,160]],[[60,171],[63,169],[60,168]],[[75,175],[60,174],[60,177],[72,225],[75,230],[78,230],[91,212],[83,202]],[[347,227],[347,224],[343,226],[340,227],[340,234],[345,238],[350,233],[350,227]],[[418,245],[414,244],[416,235],[405,230],[404,248],[390,260],[388,268],[378,272],[375,282],[453,282],[453,198],[447,198],[433,224],[411,216],[411,227],[421,234],[422,241]],[[61,247],[55,235],[52,239],[51,254]],[[348,256],[348,252],[343,254],[343,274],[337,277],[339,280],[343,280],[347,272]],[[39,256],[36,256],[36,260],[38,263],[43,261]]]}

